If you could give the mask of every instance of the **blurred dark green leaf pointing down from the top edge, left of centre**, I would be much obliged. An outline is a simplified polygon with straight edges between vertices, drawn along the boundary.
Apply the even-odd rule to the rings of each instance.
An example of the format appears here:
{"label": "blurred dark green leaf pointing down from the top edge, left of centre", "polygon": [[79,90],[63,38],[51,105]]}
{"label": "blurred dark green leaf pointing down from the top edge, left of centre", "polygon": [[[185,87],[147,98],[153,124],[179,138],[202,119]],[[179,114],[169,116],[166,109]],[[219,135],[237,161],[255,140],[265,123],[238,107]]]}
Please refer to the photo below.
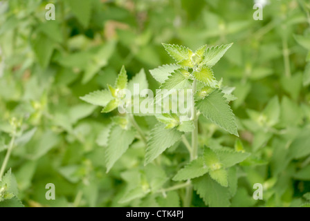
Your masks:
{"label": "blurred dark green leaf pointing down from the top edge, left of centre", "polygon": [[92,1],[84,0],[66,0],[80,23],[86,28],[89,26],[91,19],[91,3]]}

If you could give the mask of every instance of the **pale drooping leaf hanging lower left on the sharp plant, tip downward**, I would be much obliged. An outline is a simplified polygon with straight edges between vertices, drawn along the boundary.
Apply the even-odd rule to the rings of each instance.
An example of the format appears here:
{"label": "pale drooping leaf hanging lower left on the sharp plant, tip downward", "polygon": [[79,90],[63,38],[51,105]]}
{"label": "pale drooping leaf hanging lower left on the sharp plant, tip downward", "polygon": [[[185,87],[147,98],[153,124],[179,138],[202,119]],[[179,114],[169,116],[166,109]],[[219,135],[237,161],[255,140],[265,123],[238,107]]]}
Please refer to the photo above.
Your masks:
{"label": "pale drooping leaf hanging lower left on the sharp plant, tip downward", "polygon": [[107,172],[109,172],[122,154],[127,151],[129,145],[134,141],[135,135],[135,131],[123,130],[117,125],[112,126],[106,149]]}

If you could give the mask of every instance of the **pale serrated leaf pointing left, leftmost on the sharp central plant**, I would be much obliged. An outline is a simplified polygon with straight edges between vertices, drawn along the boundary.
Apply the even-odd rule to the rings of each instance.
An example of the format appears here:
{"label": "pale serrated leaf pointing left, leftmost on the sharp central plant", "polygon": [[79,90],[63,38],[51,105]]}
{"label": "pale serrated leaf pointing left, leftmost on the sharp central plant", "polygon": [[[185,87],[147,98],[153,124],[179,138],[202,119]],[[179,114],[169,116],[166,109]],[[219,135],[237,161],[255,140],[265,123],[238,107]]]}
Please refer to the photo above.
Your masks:
{"label": "pale serrated leaf pointing left, leftmost on the sharp central plant", "polygon": [[95,90],[87,95],[84,95],[83,97],[80,97],[80,99],[84,102],[96,106],[107,106],[112,98],[113,97],[109,90]]}

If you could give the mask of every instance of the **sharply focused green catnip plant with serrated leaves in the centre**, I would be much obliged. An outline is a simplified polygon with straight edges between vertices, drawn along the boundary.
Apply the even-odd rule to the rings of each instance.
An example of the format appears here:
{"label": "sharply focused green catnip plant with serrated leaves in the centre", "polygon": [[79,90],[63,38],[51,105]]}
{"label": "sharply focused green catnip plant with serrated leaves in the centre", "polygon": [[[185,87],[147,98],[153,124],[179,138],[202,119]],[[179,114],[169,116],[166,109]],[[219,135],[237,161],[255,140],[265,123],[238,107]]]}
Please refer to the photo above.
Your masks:
{"label": "sharply focused green catnip plant with serrated leaves in the centre", "polygon": [[[222,86],[222,80],[217,81],[212,71],[212,66],[217,64],[217,61],[232,45],[202,46],[193,52],[183,46],[163,44],[176,64],[151,70],[154,79],[161,84],[160,88],[167,89],[159,100],[161,102],[163,98],[169,97],[171,89],[190,89],[192,91],[191,114],[186,119],[188,113],[185,113],[183,118],[180,113],[172,113],[170,101],[170,106],[166,110],[168,113],[154,114],[158,124],[147,134],[136,122],[135,114],[125,113],[111,117],[112,123],[106,131],[108,134],[105,151],[107,172],[127,151],[129,145],[138,142],[135,140],[136,135],[145,146],[145,164],[144,166],[138,165],[137,169],[141,169],[146,177],[143,177],[143,173],[140,174],[140,183],[136,185],[131,186],[130,181],[128,190],[122,195],[120,202],[146,198],[147,195],[154,198],[156,193],[165,195],[167,191],[186,188],[185,193],[181,194],[183,206],[191,206],[192,186],[194,186],[207,205],[217,205],[217,201],[212,197],[220,194],[219,191],[222,189],[228,193],[228,189],[232,188],[233,183],[231,182],[235,179],[235,169],[232,166],[244,161],[249,154],[230,148],[208,148],[199,143],[199,115],[201,114],[225,131],[239,136],[235,116],[228,105],[230,100],[235,99],[231,95],[233,90]],[[144,71],[141,70],[138,75],[128,81],[123,66],[115,86],[109,85],[109,90],[97,90],[81,97],[81,99],[90,104],[102,106],[102,113],[109,113],[120,105],[121,99],[124,97],[123,89],[129,88],[131,93],[134,93],[134,84],[138,84],[140,89],[147,88]],[[136,96],[140,98],[140,94],[138,94],[125,101],[127,108],[129,106],[131,109],[131,106],[135,105],[133,100]],[[156,95],[157,97],[158,95]],[[156,102],[158,101],[156,100]],[[189,101],[185,100],[184,102]],[[188,142],[188,135],[191,137],[191,144]],[[167,148],[174,149],[170,153],[174,153],[174,151],[177,153],[177,149],[182,147],[179,145],[180,141],[188,149],[189,162],[181,169],[179,167],[174,169],[176,174],[172,177],[174,180],[172,182],[171,177],[165,175],[165,170],[163,170],[165,165],[161,165],[160,156]],[[134,173],[134,175],[137,174]],[[134,177],[131,178],[134,180]],[[183,183],[180,183],[181,181]],[[166,183],[169,183],[170,186],[163,189],[163,186],[167,186]]]}

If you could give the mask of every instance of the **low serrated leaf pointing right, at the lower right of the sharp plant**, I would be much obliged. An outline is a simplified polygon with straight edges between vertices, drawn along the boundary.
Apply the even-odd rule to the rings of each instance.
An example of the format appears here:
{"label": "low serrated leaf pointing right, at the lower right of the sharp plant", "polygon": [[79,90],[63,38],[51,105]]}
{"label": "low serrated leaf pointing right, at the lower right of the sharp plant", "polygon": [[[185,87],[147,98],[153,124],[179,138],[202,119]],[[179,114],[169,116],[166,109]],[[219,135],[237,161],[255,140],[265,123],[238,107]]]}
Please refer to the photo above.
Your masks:
{"label": "low serrated leaf pointing right, at the lower right of the sharp plant", "polygon": [[215,150],[215,153],[217,153],[219,160],[225,168],[239,164],[239,162],[243,162],[248,156],[250,156],[250,153],[228,150]]}

